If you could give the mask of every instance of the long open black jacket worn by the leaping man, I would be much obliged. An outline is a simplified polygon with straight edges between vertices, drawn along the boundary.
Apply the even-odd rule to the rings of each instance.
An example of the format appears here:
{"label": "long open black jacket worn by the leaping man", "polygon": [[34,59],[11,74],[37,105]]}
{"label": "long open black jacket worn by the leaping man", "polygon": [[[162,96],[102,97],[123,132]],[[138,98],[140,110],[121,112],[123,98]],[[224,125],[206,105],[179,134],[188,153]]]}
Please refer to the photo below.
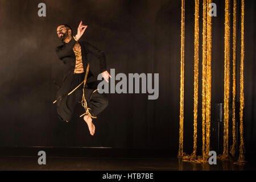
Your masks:
{"label": "long open black jacket worn by the leaping man", "polygon": [[[59,90],[56,93],[56,105],[57,105],[57,113],[61,115],[61,120],[68,120],[69,109],[66,105],[68,93],[70,92],[72,77],[75,70],[76,65],[76,56],[73,51],[73,47],[76,44],[76,40],[72,37],[72,39],[68,43],[64,43],[61,46],[56,47],[57,56],[63,63],[66,65],[63,75],[63,83],[61,84]],[[100,51],[96,47],[92,46],[88,42],[79,41],[81,46],[81,54],[82,54],[82,64],[84,67],[84,72],[86,72],[87,63],[87,55],[88,53],[92,53],[94,56],[98,57],[100,60],[100,71],[101,73],[106,71],[106,59],[104,52]],[[92,86],[88,86],[92,85]],[[86,81],[86,91],[85,98],[88,100],[90,98],[92,92],[97,89],[97,78],[94,77],[93,73],[88,72],[88,77]]]}

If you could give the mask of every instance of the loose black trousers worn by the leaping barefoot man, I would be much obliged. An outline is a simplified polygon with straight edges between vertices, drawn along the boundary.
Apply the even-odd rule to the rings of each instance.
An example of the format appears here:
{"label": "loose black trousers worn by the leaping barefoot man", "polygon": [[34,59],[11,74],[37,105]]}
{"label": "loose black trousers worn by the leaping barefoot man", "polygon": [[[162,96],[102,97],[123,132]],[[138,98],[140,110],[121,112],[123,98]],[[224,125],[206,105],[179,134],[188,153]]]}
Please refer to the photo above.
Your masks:
{"label": "loose black trousers worn by the leaping barefoot man", "polygon": [[[69,89],[69,92],[75,89],[84,80],[84,76],[85,76],[85,73],[73,74],[72,84]],[[87,106],[90,108],[89,110],[90,114],[94,117],[97,117],[97,115],[100,114],[106,108],[106,106],[108,106],[108,98],[104,93],[102,94],[98,93],[98,91],[96,90],[97,85],[98,85],[97,81],[90,82],[85,85],[85,92],[91,93],[89,94],[88,98],[86,98]],[[84,84],[82,84],[79,88],[77,88],[75,92],[70,94],[67,98],[67,107],[69,110],[71,110],[72,115],[74,113],[76,104],[81,105],[81,103],[79,102],[82,100],[83,87],[84,87]],[[94,90],[96,90],[96,92]],[[70,118],[72,118],[72,115],[70,116]]]}

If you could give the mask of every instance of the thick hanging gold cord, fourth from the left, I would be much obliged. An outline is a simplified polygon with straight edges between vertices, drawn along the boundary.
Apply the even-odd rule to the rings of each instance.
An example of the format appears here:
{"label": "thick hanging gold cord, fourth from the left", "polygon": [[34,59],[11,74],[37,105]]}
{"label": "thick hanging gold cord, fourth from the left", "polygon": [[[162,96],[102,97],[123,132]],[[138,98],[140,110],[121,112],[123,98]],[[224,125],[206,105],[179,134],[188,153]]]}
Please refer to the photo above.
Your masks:
{"label": "thick hanging gold cord, fourth from the left", "polygon": [[[212,0],[208,0],[207,7],[209,13],[210,11],[210,3]],[[205,111],[205,118],[206,118],[206,142],[205,142],[205,156],[203,157],[204,160],[209,158],[210,152],[210,103],[211,103],[211,90],[212,90],[212,16],[207,14],[207,93],[206,93],[206,111]]]}

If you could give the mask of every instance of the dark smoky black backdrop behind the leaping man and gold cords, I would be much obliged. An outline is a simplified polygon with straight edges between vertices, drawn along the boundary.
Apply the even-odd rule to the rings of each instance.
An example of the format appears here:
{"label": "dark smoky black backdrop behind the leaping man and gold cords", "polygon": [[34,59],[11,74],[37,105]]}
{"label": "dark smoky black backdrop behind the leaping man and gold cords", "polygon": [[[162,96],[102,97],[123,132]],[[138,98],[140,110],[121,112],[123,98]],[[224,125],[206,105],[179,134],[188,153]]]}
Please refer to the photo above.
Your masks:
{"label": "dark smoky black backdrop behind the leaping man and gold cords", "polygon": [[[46,3],[46,17],[38,16],[40,2]],[[213,2],[217,5],[217,17],[213,17],[212,34],[212,108],[223,102],[225,7],[224,1]],[[253,154],[256,151],[255,1],[245,3],[245,147],[247,153]],[[177,154],[180,7],[180,1],[176,0],[1,0],[0,146],[170,148]],[[238,14],[240,8],[238,5]],[[193,14],[194,2],[185,1],[184,151],[188,153],[193,146]],[[200,21],[201,18],[200,13]],[[52,104],[57,91],[53,80],[60,84],[64,68],[55,54],[55,47],[61,44],[56,26],[67,23],[76,32],[80,20],[89,26],[82,39],[105,52],[109,71],[115,68],[116,74],[159,73],[158,100],[147,100],[147,94],[108,94],[109,106],[94,120],[93,137],[79,118],[80,104],[70,123],[59,121],[56,106]],[[239,15],[237,23],[240,22]],[[237,65],[240,64],[240,32],[238,26]],[[98,68],[94,57],[90,64]],[[238,75],[239,68],[239,93]],[[200,109],[201,105],[199,115]]]}

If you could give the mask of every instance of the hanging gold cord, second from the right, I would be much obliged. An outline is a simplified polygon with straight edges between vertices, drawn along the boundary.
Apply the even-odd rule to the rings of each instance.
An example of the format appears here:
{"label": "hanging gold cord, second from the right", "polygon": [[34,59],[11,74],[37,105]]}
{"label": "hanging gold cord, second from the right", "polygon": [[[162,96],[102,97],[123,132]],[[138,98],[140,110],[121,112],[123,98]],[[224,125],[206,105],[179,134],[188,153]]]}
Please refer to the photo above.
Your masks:
{"label": "hanging gold cord, second from the right", "polygon": [[233,90],[232,90],[232,136],[233,144],[230,154],[234,158],[236,153],[236,34],[237,34],[237,0],[233,0]]}

